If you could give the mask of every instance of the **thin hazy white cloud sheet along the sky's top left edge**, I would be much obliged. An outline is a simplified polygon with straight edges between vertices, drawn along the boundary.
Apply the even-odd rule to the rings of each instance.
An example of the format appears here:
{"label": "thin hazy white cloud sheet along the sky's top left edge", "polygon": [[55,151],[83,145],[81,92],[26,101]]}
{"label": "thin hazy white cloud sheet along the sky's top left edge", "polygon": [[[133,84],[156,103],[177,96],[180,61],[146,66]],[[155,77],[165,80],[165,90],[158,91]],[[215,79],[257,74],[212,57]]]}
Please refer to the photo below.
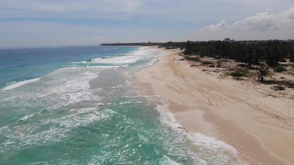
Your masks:
{"label": "thin hazy white cloud sheet along the sky's top left edge", "polygon": [[[132,13],[142,0],[0,0],[0,17],[97,16],[111,12]],[[76,14],[74,14],[76,13]]]}

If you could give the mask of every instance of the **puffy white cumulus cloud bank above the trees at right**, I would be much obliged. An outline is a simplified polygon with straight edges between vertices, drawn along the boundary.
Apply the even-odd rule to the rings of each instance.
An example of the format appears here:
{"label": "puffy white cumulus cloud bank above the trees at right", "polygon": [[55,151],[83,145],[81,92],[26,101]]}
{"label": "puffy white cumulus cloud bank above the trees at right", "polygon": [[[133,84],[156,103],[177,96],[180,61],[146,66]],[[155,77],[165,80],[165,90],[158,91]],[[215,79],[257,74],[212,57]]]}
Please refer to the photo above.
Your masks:
{"label": "puffy white cumulus cloud bank above the trees at right", "polygon": [[192,32],[192,36],[198,40],[223,39],[225,37],[238,40],[289,39],[294,37],[291,34],[294,34],[294,7],[278,13],[273,13],[268,8],[265,12],[231,24],[222,20],[219,24]]}

